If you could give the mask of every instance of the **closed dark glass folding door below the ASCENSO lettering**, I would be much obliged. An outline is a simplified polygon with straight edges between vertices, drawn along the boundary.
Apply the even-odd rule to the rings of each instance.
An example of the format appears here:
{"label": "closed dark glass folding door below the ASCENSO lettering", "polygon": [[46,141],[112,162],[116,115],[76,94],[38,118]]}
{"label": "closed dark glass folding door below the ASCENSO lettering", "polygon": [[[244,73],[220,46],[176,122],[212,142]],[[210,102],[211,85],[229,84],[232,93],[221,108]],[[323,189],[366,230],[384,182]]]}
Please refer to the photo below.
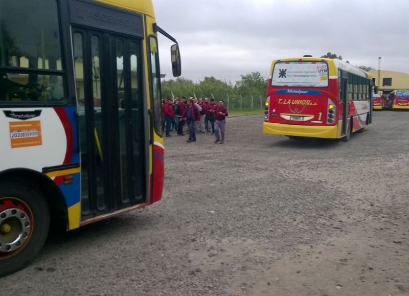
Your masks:
{"label": "closed dark glass folding door below the ASCENSO lettering", "polygon": [[141,40],[75,27],[73,49],[86,219],[145,201]]}

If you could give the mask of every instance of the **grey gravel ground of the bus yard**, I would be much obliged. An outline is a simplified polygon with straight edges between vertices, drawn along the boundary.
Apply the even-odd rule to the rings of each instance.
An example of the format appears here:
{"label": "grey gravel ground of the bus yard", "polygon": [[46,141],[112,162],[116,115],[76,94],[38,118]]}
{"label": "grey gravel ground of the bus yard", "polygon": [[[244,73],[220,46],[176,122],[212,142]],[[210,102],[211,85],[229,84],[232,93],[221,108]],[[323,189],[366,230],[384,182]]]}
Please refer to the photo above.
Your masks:
{"label": "grey gravel ground of the bus yard", "polygon": [[53,233],[2,295],[409,295],[408,112],[347,143],[166,138],[164,198]]}

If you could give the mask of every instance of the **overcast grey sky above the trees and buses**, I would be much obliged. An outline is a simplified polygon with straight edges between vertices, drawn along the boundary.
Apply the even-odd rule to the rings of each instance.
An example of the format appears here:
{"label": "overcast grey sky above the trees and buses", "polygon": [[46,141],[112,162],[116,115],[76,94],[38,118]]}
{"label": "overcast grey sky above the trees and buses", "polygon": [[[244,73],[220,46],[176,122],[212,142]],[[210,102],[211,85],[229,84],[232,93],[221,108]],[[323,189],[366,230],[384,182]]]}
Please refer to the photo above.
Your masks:
{"label": "overcast grey sky above the trees and buses", "polygon": [[[179,43],[182,77],[238,80],[273,59],[336,53],[354,65],[409,73],[408,0],[153,0],[157,24]],[[171,41],[159,37],[172,77]]]}

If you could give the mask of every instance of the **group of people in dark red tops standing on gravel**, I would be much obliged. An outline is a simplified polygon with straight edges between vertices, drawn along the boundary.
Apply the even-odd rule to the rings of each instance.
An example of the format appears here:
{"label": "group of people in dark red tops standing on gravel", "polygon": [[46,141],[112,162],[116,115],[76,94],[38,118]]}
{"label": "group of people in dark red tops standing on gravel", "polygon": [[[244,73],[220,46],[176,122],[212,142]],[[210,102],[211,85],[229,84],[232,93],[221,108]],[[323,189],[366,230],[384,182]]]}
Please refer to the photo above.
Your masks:
{"label": "group of people in dark red tops standing on gravel", "polygon": [[[215,135],[214,143],[224,143],[224,127],[229,112],[224,107],[224,101],[215,102],[213,98],[175,97],[163,100],[164,127],[166,136],[171,136],[172,128],[177,130],[178,135],[185,135],[183,128],[188,126],[188,143],[196,142],[196,133],[212,132]],[[210,130],[211,129],[211,130]]]}

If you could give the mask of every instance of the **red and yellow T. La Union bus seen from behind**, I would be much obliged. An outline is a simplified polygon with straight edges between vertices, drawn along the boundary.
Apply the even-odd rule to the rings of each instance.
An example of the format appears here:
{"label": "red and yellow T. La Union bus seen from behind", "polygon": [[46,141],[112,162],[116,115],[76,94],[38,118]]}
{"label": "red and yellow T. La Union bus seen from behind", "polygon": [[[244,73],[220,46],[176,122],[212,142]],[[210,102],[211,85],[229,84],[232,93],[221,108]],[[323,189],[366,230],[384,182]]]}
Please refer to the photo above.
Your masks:
{"label": "red and yellow T. La Union bus seen from behind", "polygon": [[263,132],[348,141],[372,121],[372,81],[339,59],[272,62]]}

